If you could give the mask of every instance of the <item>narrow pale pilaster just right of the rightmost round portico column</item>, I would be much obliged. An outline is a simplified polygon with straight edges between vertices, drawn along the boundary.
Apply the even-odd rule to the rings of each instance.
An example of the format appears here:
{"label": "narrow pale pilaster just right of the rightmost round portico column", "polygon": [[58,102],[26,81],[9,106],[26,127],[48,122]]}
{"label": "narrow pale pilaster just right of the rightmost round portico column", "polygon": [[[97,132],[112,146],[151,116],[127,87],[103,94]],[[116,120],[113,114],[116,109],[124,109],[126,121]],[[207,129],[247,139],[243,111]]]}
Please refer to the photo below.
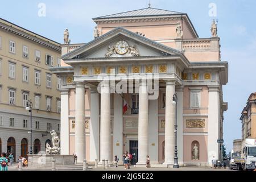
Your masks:
{"label": "narrow pale pilaster just right of the rightmost round portico column", "polygon": [[183,86],[177,89],[177,156],[179,164],[183,164]]}

